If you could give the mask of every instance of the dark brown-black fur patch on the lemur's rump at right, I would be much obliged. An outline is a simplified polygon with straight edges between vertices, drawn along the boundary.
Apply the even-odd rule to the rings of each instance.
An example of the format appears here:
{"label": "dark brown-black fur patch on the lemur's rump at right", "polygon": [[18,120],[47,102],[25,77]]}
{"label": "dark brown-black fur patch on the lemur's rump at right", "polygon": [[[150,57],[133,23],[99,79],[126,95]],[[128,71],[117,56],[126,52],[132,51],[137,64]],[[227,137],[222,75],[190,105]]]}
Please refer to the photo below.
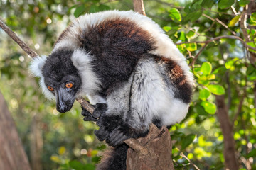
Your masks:
{"label": "dark brown-black fur patch on the lemur's rump at right", "polygon": [[173,60],[165,57],[155,57],[156,62],[164,64],[167,76],[171,79],[172,86],[175,87],[174,94],[176,98],[181,98],[184,103],[190,103],[192,97],[192,86],[186,81],[186,76],[181,67]]}

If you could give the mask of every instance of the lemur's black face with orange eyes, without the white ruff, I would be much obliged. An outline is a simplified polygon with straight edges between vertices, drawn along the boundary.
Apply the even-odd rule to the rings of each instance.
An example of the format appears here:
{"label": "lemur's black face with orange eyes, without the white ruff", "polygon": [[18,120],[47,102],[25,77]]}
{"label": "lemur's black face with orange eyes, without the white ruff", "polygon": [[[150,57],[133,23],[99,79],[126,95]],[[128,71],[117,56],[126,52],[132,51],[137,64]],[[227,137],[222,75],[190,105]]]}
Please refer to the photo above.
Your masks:
{"label": "lemur's black face with orange eyes, without the white ruff", "polygon": [[55,95],[56,108],[60,113],[69,111],[75,94],[81,86],[78,69],[71,61],[73,51],[53,52],[43,66],[43,77],[49,91]]}

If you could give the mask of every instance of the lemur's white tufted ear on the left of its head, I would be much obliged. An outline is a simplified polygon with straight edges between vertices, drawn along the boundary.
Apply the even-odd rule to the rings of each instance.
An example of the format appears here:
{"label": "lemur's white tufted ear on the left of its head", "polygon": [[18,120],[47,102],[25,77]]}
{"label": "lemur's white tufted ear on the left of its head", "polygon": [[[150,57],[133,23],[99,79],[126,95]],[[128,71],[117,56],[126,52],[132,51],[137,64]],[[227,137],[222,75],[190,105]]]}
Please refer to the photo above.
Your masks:
{"label": "lemur's white tufted ear on the left of its head", "polygon": [[36,77],[43,77],[42,69],[43,65],[46,63],[47,57],[35,57],[29,66],[31,73]]}

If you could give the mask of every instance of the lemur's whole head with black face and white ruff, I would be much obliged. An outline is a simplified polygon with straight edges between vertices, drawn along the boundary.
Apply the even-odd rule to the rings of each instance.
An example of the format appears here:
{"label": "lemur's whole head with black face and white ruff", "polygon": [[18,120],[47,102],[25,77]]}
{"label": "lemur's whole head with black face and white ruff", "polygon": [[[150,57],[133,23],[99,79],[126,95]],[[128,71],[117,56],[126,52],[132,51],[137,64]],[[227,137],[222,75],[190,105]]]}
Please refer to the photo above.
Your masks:
{"label": "lemur's whole head with black face and white ruff", "polygon": [[31,62],[33,75],[40,78],[46,98],[56,100],[57,111],[69,111],[77,95],[93,94],[100,89],[92,64],[92,55],[82,48],[53,50],[49,57],[36,57]]}

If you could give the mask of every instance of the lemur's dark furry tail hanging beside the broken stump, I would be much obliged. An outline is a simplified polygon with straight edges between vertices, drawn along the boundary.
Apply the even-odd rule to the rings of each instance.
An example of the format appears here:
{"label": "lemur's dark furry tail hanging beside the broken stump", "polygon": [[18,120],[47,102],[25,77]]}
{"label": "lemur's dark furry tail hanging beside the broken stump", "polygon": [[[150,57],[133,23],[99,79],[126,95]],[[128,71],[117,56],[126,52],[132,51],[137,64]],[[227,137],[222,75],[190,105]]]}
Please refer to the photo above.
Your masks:
{"label": "lemur's dark furry tail hanging beside the broken stump", "polygon": [[105,151],[100,164],[97,164],[96,170],[126,170],[128,148],[128,145],[124,143]]}

